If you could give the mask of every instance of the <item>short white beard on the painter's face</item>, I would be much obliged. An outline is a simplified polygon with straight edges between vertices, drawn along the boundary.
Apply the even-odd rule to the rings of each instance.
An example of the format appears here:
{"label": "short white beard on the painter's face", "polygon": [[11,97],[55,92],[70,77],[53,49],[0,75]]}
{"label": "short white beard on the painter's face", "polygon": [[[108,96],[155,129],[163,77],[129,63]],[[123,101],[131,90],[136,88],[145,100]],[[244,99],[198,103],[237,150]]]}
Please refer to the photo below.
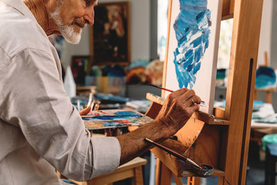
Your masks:
{"label": "short white beard on the painter's face", "polygon": [[59,13],[60,4],[55,9],[55,12],[51,13],[51,18],[54,19],[55,23],[60,28],[60,33],[67,42],[71,44],[79,44],[82,35],[82,29],[80,29],[80,33],[78,33],[74,30],[73,25],[64,25]]}

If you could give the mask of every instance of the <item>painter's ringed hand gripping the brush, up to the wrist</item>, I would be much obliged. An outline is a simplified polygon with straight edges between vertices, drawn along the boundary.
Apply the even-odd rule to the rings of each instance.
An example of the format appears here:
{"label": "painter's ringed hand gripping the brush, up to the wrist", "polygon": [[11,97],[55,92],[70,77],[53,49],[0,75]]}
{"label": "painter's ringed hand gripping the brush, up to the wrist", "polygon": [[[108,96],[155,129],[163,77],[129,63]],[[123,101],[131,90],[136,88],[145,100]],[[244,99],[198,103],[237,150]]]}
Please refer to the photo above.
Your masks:
{"label": "painter's ringed hand gripping the brush, up to the wrist", "polygon": [[195,95],[195,91],[179,89],[168,95],[156,120],[165,124],[173,135],[186,124],[193,112],[199,110],[200,103],[201,98]]}

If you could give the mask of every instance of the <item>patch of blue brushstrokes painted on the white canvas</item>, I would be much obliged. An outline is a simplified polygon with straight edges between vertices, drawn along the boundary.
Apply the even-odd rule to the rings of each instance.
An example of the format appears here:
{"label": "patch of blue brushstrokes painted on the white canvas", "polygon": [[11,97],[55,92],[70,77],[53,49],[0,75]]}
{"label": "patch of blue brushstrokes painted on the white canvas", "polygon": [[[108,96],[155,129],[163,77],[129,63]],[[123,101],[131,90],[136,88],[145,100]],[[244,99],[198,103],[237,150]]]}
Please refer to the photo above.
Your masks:
{"label": "patch of blue brushstrokes painted on the white canvas", "polygon": [[[174,51],[179,88],[192,89],[208,48],[211,33],[211,11],[207,0],[179,0],[180,13],[174,23],[178,47]],[[190,85],[190,87],[188,87]]]}

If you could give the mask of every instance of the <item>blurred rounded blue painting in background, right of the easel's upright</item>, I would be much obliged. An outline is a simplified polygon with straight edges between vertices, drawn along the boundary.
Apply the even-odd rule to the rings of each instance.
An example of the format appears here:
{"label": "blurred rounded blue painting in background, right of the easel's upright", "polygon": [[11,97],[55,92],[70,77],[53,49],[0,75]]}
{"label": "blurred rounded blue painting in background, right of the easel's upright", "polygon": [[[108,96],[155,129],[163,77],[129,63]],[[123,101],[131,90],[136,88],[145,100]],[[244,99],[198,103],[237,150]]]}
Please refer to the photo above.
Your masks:
{"label": "blurred rounded blue painting in background, right of the easel's upright", "polygon": [[259,67],[256,73],[255,87],[257,89],[267,89],[274,87],[276,74],[271,67]]}

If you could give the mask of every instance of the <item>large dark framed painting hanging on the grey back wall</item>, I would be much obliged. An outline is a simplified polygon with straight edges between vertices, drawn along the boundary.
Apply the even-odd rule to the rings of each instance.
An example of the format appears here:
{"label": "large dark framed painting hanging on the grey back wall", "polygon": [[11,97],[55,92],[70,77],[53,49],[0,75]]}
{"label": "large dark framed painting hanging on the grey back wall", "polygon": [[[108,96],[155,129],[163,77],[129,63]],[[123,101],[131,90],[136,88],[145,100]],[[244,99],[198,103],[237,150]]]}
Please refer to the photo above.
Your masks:
{"label": "large dark framed painting hanging on the grey back wall", "polygon": [[99,3],[94,12],[89,31],[93,64],[129,64],[129,2]]}

